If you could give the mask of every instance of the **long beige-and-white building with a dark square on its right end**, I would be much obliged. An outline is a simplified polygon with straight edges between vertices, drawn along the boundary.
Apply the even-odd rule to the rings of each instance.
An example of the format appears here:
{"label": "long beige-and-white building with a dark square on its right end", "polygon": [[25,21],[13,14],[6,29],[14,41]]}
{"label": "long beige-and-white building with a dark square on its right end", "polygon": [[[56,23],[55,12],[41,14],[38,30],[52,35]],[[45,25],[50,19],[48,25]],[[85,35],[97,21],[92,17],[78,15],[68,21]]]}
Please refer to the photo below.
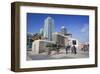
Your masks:
{"label": "long beige-and-white building with a dark square on its right end", "polygon": [[75,42],[75,46],[78,48],[80,45],[79,40],[72,38],[71,36],[67,36],[67,35],[63,35],[61,33],[55,32],[53,33],[53,41],[55,41],[55,43],[58,43],[62,46],[73,46],[73,42]]}

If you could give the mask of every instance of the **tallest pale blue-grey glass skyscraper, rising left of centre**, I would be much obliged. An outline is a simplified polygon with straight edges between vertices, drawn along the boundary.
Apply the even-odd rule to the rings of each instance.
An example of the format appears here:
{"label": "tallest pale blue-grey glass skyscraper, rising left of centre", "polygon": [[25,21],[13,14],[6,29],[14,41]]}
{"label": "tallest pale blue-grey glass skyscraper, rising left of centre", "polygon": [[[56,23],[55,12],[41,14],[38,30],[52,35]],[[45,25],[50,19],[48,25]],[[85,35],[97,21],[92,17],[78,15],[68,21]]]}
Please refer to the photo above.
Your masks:
{"label": "tallest pale blue-grey glass skyscraper, rising left of centre", "polygon": [[43,36],[46,40],[52,41],[53,30],[54,30],[54,20],[51,17],[47,17],[44,20],[44,33],[43,33]]}

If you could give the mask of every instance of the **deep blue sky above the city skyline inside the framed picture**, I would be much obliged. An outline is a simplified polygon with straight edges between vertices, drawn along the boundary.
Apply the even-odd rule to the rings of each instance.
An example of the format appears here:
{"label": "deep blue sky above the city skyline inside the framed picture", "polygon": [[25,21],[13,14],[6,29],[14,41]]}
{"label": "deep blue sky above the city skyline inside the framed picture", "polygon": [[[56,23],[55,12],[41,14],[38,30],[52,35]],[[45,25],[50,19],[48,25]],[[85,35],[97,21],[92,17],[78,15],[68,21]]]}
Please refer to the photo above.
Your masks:
{"label": "deep blue sky above the city skyline inside the framed picture", "polygon": [[27,13],[27,32],[38,33],[48,16],[54,19],[55,32],[60,32],[60,28],[65,26],[73,38],[80,42],[89,41],[89,16],[85,15]]}

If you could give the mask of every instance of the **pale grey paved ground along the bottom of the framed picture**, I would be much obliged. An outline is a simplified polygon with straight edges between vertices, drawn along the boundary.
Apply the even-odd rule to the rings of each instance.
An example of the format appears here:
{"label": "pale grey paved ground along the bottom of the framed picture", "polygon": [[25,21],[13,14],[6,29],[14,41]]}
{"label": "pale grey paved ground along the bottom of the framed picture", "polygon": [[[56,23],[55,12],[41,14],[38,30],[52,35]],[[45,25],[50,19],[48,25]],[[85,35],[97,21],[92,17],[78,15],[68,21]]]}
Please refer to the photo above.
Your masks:
{"label": "pale grey paved ground along the bottom of the framed picture", "polygon": [[47,59],[74,59],[74,58],[88,58],[89,51],[77,50],[77,54],[71,53],[69,50],[66,54],[65,49],[60,49],[60,52],[51,51],[48,55],[47,52],[40,53],[38,55],[33,55],[32,51],[27,51],[27,60],[47,60]]}

